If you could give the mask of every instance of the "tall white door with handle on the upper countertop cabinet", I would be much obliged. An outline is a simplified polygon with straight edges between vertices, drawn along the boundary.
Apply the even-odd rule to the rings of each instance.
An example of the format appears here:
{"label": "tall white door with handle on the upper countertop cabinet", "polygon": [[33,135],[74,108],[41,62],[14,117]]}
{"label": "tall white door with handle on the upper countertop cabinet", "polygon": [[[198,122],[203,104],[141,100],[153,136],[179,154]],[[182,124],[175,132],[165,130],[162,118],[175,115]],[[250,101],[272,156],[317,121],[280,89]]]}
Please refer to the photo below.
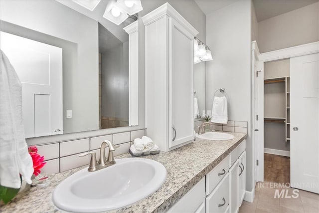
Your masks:
{"label": "tall white door with handle on the upper countertop cabinet", "polygon": [[169,18],[169,148],[194,139],[193,40]]}

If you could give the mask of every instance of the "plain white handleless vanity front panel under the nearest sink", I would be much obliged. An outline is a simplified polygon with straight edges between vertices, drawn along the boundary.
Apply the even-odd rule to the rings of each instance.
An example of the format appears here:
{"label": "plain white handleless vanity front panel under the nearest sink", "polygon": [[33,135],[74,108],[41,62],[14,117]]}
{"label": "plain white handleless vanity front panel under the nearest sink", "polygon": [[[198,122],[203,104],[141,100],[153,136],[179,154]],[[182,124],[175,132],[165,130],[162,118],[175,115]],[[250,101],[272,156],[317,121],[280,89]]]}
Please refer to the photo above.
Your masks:
{"label": "plain white handleless vanity front panel under the nearest sink", "polygon": [[205,197],[205,178],[202,178],[167,213],[199,213],[200,207],[205,203]]}

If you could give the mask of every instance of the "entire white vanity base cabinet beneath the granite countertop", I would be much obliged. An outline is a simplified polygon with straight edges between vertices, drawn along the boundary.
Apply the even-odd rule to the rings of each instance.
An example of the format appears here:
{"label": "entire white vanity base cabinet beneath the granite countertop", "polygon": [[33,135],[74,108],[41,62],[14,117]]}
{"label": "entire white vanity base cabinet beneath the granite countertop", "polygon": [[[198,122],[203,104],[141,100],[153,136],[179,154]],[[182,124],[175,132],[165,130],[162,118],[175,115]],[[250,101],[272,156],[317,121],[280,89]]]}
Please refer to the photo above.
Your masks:
{"label": "entire white vanity base cabinet beneath the granite countertop", "polygon": [[168,212],[237,213],[246,191],[245,149],[246,140],[241,142]]}

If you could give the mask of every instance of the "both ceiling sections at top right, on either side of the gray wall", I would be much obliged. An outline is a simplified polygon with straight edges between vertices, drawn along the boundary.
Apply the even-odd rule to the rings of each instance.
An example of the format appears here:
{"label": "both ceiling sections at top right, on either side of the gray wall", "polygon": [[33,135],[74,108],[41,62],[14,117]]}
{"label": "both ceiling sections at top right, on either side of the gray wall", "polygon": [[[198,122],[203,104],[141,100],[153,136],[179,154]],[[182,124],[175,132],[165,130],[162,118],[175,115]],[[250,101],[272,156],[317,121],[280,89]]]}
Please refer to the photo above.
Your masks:
{"label": "both ceiling sections at top right, on either side of the gray wall", "polygon": [[[199,8],[208,15],[237,0],[195,0]],[[319,0],[253,0],[258,21],[280,15],[300,7],[318,2]]]}

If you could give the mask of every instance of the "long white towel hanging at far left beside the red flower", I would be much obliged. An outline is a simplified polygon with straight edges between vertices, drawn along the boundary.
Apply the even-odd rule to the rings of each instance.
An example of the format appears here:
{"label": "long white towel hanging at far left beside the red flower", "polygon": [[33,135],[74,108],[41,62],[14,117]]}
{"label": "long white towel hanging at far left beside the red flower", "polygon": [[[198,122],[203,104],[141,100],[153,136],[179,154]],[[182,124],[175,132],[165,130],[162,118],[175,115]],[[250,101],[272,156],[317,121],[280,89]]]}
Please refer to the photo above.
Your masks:
{"label": "long white towel hanging at far left beside the red flower", "polygon": [[0,183],[18,189],[20,175],[31,184],[33,162],[28,153],[22,123],[21,82],[0,50]]}

